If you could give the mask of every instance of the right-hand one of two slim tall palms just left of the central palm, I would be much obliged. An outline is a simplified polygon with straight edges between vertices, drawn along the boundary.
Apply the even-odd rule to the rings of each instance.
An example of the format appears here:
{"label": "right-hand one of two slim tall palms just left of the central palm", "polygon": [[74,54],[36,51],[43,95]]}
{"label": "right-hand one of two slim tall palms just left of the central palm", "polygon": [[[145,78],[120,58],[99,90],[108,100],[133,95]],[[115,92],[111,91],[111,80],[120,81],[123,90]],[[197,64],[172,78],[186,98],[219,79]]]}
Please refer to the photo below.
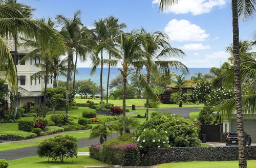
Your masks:
{"label": "right-hand one of two slim tall palms just left of the central palm", "polygon": [[[119,19],[113,16],[110,16],[105,19],[106,21],[106,29],[108,33],[108,40],[110,43],[114,43],[115,38],[120,35],[121,30],[126,27],[125,23],[118,24]],[[111,53],[109,53],[109,59],[111,59]],[[106,81],[106,104],[109,103],[109,81],[110,81],[110,68],[111,64],[109,63],[108,69],[108,79]]]}

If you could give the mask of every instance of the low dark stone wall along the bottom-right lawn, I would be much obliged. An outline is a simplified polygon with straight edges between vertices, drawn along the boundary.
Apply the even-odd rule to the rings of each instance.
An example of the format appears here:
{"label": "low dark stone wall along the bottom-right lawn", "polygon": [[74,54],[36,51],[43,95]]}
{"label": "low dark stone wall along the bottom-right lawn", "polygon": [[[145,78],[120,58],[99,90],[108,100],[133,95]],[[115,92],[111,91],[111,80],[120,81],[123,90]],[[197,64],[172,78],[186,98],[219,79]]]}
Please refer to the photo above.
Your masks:
{"label": "low dark stone wall along the bottom-right lawn", "polygon": [[[256,159],[256,146],[246,147],[246,158]],[[193,160],[238,160],[238,147],[157,148],[148,151],[149,165]]]}

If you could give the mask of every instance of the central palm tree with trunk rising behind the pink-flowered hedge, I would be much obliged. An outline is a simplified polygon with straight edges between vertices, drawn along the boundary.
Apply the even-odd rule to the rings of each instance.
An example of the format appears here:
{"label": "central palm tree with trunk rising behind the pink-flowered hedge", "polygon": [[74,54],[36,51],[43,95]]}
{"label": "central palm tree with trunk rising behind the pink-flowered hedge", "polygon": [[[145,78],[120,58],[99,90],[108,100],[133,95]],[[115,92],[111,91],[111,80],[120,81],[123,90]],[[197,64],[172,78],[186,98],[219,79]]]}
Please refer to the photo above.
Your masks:
{"label": "central palm tree with trunk rising behind the pink-flowered hedge", "polygon": [[[96,67],[99,64],[109,64],[112,66],[116,66],[120,64],[122,69],[119,68],[122,77],[123,77],[123,132],[126,130],[125,126],[125,108],[126,108],[126,85],[127,85],[127,76],[132,73],[135,65],[138,65],[138,61],[141,58],[142,49],[141,49],[141,40],[138,36],[132,32],[129,34],[122,33],[121,36],[117,40],[114,46],[109,45],[108,43],[102,43],[98,46],[97,52],[100,52],[103,48],[110,52],[115,59],[98,59],[94,60],[92,71],[95,71]],[[136,64],[135,64],[136,63]],[[142,64],[142,62],[140,63]],[[147,97],[152,99],[153,101],[159,101],[157,95],[154,93],[154,90],[150,85],[146,82],[143,76],[139,75],[139,80],[141,82],[142,89],[146,91]]]}

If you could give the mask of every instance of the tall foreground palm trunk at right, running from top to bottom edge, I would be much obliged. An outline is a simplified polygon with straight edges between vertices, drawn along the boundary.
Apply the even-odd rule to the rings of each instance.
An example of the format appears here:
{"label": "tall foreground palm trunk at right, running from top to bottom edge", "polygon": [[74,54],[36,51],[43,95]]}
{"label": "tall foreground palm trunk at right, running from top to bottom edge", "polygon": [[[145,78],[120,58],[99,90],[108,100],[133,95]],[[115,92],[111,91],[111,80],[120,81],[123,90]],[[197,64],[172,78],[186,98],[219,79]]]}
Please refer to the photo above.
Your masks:
{"label": "tall foreground palm trunk at right, running from top to bottom edge", "polygon": [[240,79],[240,53],[239,53],[239,24],[238,1],[232,0],[232,26],[233,26],[233,58],[234,58],[234,98],[236,100],[237,126],[238,126],[238,160],[239,167],[247,167],[245,158],[245,139],[242,109],[242,93]]}

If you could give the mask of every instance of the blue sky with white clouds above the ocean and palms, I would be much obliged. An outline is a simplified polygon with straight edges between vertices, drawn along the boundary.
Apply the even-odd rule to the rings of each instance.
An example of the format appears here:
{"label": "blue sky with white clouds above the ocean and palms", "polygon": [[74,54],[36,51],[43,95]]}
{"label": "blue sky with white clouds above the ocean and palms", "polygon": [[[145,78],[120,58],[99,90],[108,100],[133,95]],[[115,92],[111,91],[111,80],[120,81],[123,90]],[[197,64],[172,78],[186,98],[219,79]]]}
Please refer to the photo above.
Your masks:
{"label": "blue sky with white clouds above the ocean and palms", "polygon": [[[147,32],[166,33],[172,47],[182,49],[181,61],[189,68],[220,67],[230,55],[225,52],[232,42],[231,0],[180,0],[164,13],[158,0],[19,0],[35,8],[34,18],[62,14],[73,17],[81,10],[81,21],[89,28],[95,20],[114,16],[127,25],[124,32],[143,27]],[[240,40],[253,40],[256,20],[240,21]],[[104,57],[108,57],[104,53]],[[91,67],[91,61],[78,61],[78,67]]]}

